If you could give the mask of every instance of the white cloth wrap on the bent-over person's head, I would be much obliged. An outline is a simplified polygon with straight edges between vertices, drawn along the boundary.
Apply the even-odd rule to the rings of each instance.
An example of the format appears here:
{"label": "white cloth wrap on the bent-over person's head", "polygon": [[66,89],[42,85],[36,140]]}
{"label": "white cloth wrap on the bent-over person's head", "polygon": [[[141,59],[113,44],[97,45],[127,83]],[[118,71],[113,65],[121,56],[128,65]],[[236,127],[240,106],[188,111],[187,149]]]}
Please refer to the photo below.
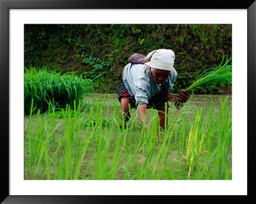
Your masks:
{"label": "white cloth wrap on the bent-over person's head", "polygon": [[159,70],[171,71],[174,65],[175,54],[172,50],[159,49],[150,52],[145,61],[150,62],[150,67]]}

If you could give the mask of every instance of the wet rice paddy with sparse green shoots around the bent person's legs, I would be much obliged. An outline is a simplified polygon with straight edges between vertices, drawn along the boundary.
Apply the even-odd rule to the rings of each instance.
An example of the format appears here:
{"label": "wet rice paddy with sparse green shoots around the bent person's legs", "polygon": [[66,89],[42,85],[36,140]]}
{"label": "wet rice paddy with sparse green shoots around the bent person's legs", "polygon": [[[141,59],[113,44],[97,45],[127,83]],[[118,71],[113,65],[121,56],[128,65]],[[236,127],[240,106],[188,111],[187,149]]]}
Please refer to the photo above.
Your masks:
{"label": "wet rice paddy with sparse green shoots around the bent person's legs", "polygon": [[34,111],[24,116],[24,179],[230,180],[231,104],[230,95],[191,95],[178,111],[170,104],[166,129],[147,109],[150,130],[136,109],[125,128],[116,94]]}

